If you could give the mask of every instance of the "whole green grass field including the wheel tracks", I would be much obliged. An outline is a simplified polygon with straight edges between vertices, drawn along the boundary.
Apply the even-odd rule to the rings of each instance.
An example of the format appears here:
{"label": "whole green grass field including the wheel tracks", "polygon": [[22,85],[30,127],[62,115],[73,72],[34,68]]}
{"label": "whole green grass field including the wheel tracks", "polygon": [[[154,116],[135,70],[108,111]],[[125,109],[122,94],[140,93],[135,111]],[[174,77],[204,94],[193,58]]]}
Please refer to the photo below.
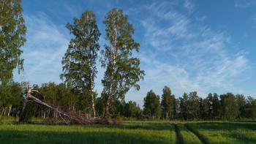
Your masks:
{"label": "whole green grass field including the wheel tracks", "polygon": [[1,143],[256,143],[256,122],[126,122],[0,125]]}

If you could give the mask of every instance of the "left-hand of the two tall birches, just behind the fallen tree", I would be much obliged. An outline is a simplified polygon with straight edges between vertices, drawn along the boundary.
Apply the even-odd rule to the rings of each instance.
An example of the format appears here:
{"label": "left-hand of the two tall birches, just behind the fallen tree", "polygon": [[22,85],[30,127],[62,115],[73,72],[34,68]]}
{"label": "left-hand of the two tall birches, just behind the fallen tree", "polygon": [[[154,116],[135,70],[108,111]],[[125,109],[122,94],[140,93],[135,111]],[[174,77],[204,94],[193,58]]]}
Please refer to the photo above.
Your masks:
{"label": "left-hand of the two tall birches, just behind the fallen tree", "polygon": [[74,23],[67,23],[70,34],[75,36],[69,43],[69,48],[62,58],[61,79],[71,81],[81,93],[89,89],[91,95],[92,116],[95,117],[94,108],[94,79],[97,74],[96,60],[99,50],[99,29],[94,12],[86,10],[80,19],[74,18]]}

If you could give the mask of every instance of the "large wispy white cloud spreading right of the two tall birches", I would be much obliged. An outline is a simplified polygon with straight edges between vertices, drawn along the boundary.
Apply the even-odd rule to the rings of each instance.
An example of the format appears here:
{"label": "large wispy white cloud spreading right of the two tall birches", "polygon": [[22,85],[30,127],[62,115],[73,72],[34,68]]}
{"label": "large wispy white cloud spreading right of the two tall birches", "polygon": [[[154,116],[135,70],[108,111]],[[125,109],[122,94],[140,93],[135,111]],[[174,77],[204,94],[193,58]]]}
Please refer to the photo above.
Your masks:
{"label": "large wispy white cloud spreading right of the two tall birches", "polygon": [[139,56],[146,71],[143,85],[159,94],[165,85],[170,86],[178,96],[189,91],[206,96],[212,89],[221,93],[239,89],[233,83],[251,68],[246,53],[230,50],[232,38],[225,31],[214,31],[200,18],[192,19],[189,12],[195,6],[190,5],[185,12],[167,3],[148,6],[153,12],[141,20],[141,25],[146,29],[146,45],[154,49]]}

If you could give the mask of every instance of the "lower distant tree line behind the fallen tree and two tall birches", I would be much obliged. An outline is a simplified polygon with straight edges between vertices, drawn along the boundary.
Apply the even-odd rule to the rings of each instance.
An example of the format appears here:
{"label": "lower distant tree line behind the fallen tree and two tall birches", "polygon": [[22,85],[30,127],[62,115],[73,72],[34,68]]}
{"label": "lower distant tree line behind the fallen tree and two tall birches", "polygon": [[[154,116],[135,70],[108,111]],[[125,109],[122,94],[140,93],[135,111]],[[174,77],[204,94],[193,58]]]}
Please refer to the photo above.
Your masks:
{"label": "lower distant tree line behind the fallen tree and two tall birches", "polygon": [[[18,117],[23,110],[25,102],[24,96],[27,93],[26,83],[9,83],[4,89],[0,86],[1,97],[1,115],[12,115]],[[80,93],[78,89],[71,85],[71,83],[59,83],[54,82],[42,83],[41,86],[34,84],[32,89],[40,91],[40,94],[44,96],[42,99],[51,105],[57,107],[67,107],[70,110],[78,111],[81,114],[93,115],[94,113],[91,107],[91,94],[89,90]],[[94,93],[94,99],[97,94]],[[5,98],[5,99],[3,99]],[[104,117],[105,105],[108,99],[108,95],[102,95],[95,100],[95,111],[97,117]],[[113,97],[110,105],[111,118],[127,117],[127,118],[142,118],[142,110],[136,102],[124,102]],[[42,105],[33,105],[31,107],[31,115],[35,118],[53,118],[56,116],[53,111]]]}

